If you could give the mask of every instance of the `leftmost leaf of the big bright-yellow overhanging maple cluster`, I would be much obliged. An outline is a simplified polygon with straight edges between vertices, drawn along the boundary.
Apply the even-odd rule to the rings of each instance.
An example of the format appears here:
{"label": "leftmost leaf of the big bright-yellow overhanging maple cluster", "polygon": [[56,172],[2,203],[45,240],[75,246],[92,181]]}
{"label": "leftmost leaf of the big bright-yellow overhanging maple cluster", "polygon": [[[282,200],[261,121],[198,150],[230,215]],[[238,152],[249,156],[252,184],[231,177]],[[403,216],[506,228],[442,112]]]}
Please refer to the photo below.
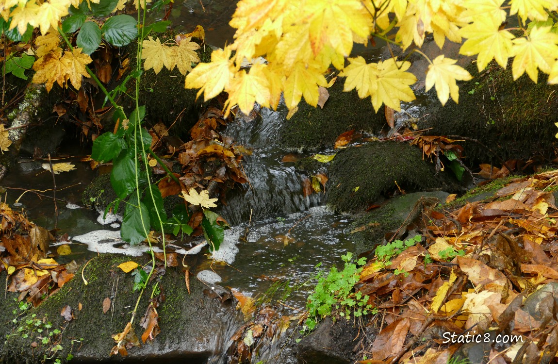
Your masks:
{"label": "leftmost leaf of the big bright-yellow overhanging maple cluster", "polygon": [[230,53],[229,47],[211,52],[211,62],[199,63],[186,76],[185,87],[199,88],[196,97],[203,93],[205,101],[216,97],[225,87],[228,88],[234,71],[229,60]]}

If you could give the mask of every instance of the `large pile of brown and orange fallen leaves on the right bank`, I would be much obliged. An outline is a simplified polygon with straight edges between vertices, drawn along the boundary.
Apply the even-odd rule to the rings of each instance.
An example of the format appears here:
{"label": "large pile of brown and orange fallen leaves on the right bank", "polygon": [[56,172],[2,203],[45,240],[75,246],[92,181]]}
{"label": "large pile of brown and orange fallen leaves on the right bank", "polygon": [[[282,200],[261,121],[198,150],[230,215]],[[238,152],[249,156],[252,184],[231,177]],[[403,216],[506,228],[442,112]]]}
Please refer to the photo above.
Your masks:
{"label": "large pile of brown and orange fallen leaves on the right bank", "polygon": [[426,209],[420,242],[379,246],[356,285],[378,312],[355,340],[359,363],[446,363],[472,345],[483,362],[554,360],[556,179],[558,170],[517,178],[489,200]]}

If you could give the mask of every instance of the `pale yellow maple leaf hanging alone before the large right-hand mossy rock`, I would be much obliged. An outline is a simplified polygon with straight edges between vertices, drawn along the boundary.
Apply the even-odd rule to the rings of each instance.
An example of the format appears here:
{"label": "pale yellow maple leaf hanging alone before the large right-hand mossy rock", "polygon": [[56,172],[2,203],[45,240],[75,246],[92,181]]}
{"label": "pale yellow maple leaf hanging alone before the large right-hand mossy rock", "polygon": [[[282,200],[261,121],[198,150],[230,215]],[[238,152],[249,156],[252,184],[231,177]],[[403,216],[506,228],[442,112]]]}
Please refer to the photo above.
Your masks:
{"label": "pale yellow maple leaf hanging alone before the large right-hand mossy rock", "polygon": [[450,94],[455,103],[459,103],[459,87],[455,83],[456,80],[468,81],[472,79],[469,72],[456,65],[456,62],[456,60],[445,58],[441,54],[428,66],[425,81],[426,91],[435,86],[442,106],[448,102]]}

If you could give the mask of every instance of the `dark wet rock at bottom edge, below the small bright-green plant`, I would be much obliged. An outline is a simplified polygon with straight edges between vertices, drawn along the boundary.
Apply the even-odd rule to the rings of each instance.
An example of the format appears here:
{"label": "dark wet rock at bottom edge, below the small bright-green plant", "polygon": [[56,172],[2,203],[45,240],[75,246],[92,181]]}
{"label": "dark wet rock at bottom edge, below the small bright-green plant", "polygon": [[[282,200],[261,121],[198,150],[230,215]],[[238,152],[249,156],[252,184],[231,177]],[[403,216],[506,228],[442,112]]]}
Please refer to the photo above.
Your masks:
{"label": "dark wet rock at bottom edge, below the small bright-green plant", "polygon": [[326,317],[315,331],[302,338],[299,343],[297,360],[299,364],[349,364],[354,360],[354,338],[358,327],[344,319],[333,323]]}

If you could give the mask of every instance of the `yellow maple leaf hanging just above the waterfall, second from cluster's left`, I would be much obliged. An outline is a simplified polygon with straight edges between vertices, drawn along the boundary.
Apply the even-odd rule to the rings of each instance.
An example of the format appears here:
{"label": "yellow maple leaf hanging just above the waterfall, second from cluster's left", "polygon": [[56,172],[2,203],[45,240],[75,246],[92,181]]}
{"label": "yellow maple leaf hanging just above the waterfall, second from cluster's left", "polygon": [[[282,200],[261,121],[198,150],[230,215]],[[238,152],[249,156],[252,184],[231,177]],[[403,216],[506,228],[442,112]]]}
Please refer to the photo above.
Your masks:
{"label": "yellow maple leaf hanging just above the waterfall, second from cluster's left", "polygon": [[[247,73],[240,70],[239,73],[234,75],[234,79],[230,83],[229,99],[227,100],[229,106],[238,104],[240,111],[248,114],[254,108],[254,102],[261,104],[264,107],[269,107],[270,90],[269,82],[263,69],[266,68],[264,64],[254,64]],[[227,108],[227,112],[229,109]]]}

